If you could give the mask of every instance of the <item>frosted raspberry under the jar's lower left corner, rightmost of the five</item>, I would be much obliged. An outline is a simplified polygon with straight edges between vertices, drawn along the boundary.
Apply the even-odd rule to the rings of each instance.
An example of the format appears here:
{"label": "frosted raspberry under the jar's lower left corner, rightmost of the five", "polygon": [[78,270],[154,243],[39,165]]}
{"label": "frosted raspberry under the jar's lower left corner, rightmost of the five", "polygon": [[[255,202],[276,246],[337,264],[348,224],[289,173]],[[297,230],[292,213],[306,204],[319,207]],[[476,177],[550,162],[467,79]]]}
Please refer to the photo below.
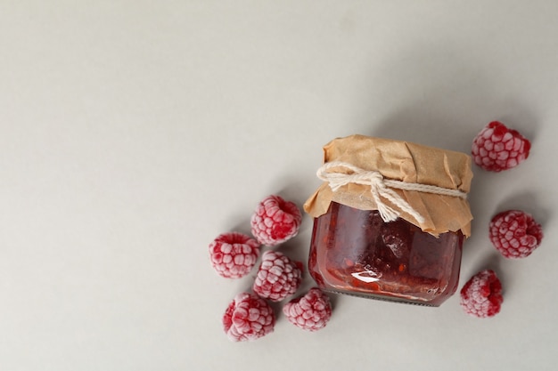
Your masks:
{"label": "frosted raspberry under the jar's lower left corner, rightmost of the five", "polygon": [[283,313],[294,326],[317,331],[332,317],[332,304],[322,290],[314,287],[304,296],[287,302]]}

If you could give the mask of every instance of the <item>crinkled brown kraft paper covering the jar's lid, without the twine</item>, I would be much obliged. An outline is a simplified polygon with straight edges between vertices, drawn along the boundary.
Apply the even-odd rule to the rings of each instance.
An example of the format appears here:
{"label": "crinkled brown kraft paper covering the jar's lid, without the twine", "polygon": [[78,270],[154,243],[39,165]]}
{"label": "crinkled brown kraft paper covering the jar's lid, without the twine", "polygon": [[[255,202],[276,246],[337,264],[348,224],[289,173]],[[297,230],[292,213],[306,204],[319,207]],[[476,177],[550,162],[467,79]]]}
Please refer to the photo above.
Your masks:
{"label": "crinkled brown kraft paper covering the jar's lid, without the twine", "polygon": [[[382,173],[386,179],[411,183],[430,184],[468,193],[471,187],[471,157],[446,149],[437,149],[408,141],[351,135],[338,138],[324,146],[324,163],[347,162],[367,171]],[[424,218],[417,222],[397,206],[385,203],[400,212],[400,217],[420,227],[423,231],[438,236],[447,231],[461,230],[471,236],[472,214],[464,198],[443,196],[415,190],[395,190]],[[376,210],[376,204],[365,185],[349,183],[333,192],[324,182],[308,198],[304,210],[318,217],[325,214],[334,201],[361,210]]]}

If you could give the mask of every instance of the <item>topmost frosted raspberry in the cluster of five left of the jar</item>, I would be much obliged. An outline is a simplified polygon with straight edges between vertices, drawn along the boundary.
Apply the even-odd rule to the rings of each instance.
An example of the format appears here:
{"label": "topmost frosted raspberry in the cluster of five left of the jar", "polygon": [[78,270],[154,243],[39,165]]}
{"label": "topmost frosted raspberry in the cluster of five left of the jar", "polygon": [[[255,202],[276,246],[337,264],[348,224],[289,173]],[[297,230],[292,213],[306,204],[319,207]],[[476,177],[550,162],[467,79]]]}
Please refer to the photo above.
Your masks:
{"label": "topmost frosted raspberry in the cluster of five left of the jar", "polygon": [[261,244],[275,246],[296,236],[301,219],[300,210],[294,203],[279,196],[268,196],[252,215],[252,234]]}

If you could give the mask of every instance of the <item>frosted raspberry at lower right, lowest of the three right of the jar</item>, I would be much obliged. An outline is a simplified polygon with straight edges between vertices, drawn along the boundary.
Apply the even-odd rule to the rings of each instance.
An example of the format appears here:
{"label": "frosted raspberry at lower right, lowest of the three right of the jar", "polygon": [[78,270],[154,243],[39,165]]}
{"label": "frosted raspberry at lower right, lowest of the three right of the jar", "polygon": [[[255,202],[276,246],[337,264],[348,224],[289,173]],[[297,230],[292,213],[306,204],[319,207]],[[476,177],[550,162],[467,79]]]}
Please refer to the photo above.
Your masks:
{"label": "frosted raspberry at lower right, lowest of the three right of the jar", "polygon": [[480,271],[461,289],[464,311],[481,319],[496,315],[503,301],[502,283],[493,270]]}

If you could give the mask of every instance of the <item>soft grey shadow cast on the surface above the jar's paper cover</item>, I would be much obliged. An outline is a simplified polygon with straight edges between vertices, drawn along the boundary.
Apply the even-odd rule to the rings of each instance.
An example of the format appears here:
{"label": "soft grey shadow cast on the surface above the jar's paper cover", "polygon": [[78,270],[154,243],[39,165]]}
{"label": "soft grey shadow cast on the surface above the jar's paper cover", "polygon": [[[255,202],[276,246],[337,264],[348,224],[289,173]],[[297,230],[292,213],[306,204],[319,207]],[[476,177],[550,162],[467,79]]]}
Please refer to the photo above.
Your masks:
{"label": "soft grey shadow cast on the surface above the jar's paper cover", "polygon": [[[378,58],[368,77],[373,101],[354,116],[363,134],[469,153],[474,135],[500,120],[535,138],[536,113],[503,94],[505,81],[483,55],[440,39]],[[372,125],[369,118],[362,124],[362,117],[373,117]]]}

